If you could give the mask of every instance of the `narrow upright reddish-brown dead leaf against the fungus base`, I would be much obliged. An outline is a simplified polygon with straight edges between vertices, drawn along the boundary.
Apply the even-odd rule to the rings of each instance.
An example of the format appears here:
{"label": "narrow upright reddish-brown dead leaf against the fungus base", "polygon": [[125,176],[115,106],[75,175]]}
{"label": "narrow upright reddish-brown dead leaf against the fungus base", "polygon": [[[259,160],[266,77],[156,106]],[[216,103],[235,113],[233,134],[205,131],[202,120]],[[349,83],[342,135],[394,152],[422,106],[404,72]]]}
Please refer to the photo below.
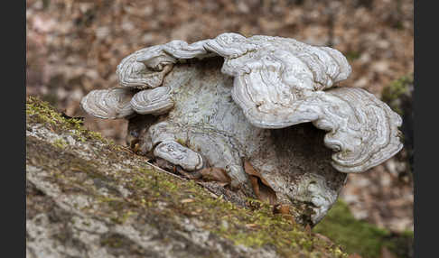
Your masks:
{"label": "narrow upright reddish-brown dead leaf against the fungus base", "polygon": [[267,201],[270,204],[275,204],[277,199],[276,191],[272,189],[262,175],[253,168],[250,162],[244,161],[244,170],[248,174],[248,178],[257,198]]}

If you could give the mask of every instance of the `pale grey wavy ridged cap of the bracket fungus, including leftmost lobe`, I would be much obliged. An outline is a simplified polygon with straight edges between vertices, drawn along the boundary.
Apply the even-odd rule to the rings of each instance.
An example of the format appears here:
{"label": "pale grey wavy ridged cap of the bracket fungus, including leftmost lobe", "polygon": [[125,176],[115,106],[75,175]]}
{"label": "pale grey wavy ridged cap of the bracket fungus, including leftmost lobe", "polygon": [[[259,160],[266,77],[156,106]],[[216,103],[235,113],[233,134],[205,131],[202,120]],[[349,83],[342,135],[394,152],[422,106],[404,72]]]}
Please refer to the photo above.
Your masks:
{"label": "pale grey wavy ridged cap of the bracket fungus, including leftmost lobe", "polygon": [[[234,77],[232,98],[251,124],[272,129],[313,122],[328,131],[324,143],[336,152],[335,169],[365,171],[401,150],[399,115],[364,89],[333,87],[348,78],[351,68],[332,48],[281,37],[223,33],[191,44],[171,41],[135,51],[117,66],[117,75],[124,88],[157,88],[182,60],[215,55],[224,58],[221,72]],[[92,91],[81,104],[90,115],[114,119],[131,115],[132,107],[136,111],[142,106],[142,99],[149,101],[137,97],[131,102],[136,106],[130,108],[127,91],[119,91],[117,97]],[[161,111],[172,110],[171,102],[165,101],[168,97],[161,99]]]}

